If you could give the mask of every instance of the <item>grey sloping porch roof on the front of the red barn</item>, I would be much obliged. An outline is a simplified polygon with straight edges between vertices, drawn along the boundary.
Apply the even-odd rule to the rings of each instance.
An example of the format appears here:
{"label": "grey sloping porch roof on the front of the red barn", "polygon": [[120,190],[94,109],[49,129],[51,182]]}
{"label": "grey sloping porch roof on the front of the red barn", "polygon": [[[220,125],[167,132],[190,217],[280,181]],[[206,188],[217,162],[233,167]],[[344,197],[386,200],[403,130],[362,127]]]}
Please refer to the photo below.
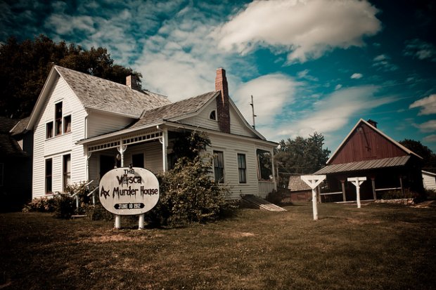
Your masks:
{"label": "grey sloping porch roof on the front of the red barn", "polygon": [[340,173],[340,172],[349,172],[349,171],[361,171],[368,169],[381,169],[385,167],[395,167],[395,166],[404,166],[411,158],[410,155],[399,156],[399,157],[391,157],[391,158],[383,158],[383,159],[373,159],[367,161],[359,161],[359,162],[350,162],[343,164],[332,164],[319,171],[316,171],[314,174],[330,174],[330,173]]}

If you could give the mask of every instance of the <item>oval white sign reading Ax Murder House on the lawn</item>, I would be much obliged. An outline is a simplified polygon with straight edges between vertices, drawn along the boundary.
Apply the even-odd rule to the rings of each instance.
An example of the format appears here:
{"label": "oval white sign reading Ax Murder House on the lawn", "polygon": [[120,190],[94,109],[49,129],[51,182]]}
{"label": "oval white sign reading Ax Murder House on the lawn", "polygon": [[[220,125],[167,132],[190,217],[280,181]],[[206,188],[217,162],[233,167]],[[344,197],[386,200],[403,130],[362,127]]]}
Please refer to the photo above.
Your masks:
{"label": "oval white sign reading Ax Murder House on the lawn", "polygon": [[136,215],[153,209],[159,200],[158,178],[147,169],[117,168],[100,180],[101,205],[117,215]]}

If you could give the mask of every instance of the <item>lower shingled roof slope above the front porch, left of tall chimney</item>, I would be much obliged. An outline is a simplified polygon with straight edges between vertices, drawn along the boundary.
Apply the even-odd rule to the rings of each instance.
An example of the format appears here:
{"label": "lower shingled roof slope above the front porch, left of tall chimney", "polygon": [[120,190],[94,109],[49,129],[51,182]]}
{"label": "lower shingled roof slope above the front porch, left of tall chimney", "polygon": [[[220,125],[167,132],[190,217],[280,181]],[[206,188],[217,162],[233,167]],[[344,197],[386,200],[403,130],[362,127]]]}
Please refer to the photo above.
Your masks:
{"label": "lower shingled roof slope above the front porch, left of tall chimney", "polygon": [[152,124],[156,121],[162,120],[174,121],[175,119],[184,117],[187,114],[193,114],[198,112],[203,105],[209,102],[212,98],[215,98],[217,95],[219,95],[219,92],[211,91],[209,93],[203,93],[203,95],[197,95],[196,97],[181,100],[170,105],[147,110],[143,112],[141,119],[139,119],[139,121],[133,124],[130,128],[145,126],[147,124]]}

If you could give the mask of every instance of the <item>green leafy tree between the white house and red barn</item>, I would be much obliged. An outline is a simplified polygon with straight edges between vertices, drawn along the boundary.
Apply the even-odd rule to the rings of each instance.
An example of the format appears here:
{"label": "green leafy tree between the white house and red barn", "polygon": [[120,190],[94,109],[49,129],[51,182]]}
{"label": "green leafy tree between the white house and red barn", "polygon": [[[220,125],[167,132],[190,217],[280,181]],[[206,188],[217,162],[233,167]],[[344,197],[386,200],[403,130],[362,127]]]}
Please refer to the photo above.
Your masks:
{"label": "green leafy tree between the white house and red barn", "polygon": [[[275,162],[279,172],[310,174],[321,169],[331,153],[328,148],[323,149],[324,136],[315,132],[309,138],[297,136],[295,139],[281,140],[276,150]],[[281,186],[286,185],[287,178],[280,180]]]}

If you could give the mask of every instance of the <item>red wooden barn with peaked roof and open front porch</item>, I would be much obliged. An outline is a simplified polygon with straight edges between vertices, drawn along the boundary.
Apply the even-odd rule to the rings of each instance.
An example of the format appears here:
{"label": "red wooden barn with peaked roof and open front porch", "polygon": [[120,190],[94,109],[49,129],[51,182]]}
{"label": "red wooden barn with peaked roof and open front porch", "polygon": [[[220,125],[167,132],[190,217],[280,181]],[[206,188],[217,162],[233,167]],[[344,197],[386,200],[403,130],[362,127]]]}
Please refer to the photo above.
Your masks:
{"label": "red wooden barn with peaked roof and open front porch", "polygon": [[366,177],[361,199],[377,199],[387,191],[423,192],[421,163],[422,157],[385,135],[376,121],[360,119],[327,166],[314,174],[327,176],[326,201],[356,200],[356,187],[347,182],[350,177]]}

